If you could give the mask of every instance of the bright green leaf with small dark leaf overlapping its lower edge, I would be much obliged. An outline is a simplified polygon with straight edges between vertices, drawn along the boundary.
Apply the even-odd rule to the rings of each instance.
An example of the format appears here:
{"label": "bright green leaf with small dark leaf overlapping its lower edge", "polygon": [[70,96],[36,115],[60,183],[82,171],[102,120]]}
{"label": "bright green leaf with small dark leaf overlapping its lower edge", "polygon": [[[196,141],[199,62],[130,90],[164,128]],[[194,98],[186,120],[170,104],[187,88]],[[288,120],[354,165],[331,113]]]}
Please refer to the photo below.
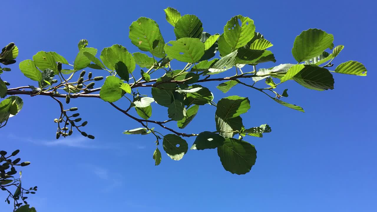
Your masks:
{"label": "bright green leaf with small dark leaf overlapping its lower edge", "polygon": [[122,61],[127,66],[127,70],[132,73],[135,70],[135,59],[127,49],[121,45],[115,44],[111,47],[104,48],[100,56],[103,64],[110,70],[115,70],[115,64]]}

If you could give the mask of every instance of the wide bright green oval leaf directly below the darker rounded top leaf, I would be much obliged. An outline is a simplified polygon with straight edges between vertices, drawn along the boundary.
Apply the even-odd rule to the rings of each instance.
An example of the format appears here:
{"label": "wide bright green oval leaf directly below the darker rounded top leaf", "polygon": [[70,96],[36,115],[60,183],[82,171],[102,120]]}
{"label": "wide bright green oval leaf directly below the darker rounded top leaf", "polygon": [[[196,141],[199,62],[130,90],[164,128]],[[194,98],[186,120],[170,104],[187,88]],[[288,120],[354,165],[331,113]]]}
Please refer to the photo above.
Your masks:
{"label": "wide bright green oval leaf directly below the darker rounded top leaf", "polygon": [[204,43],[198,38],[180,38],[177,41],[169,41],[165,45],[165,52],[170,58],[194,63],[204,55]]}

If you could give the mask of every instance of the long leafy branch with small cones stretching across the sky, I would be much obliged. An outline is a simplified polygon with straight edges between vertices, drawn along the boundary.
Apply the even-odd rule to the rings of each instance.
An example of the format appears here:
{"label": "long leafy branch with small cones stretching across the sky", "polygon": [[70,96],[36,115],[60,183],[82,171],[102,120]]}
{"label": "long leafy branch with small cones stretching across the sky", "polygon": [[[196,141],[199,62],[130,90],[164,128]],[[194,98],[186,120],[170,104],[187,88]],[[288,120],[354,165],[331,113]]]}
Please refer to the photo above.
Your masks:
{"label": "long leafy branch with small cones stretching across the sky", "polygon": [[[262,92],[283,106],[304,112],[300,106],[282,100],[283,97],[288,97],[288,89],[278,90],[280,84],[293,80],[305,88],[325,91],[334,88],[332,73],[366,75],[366,68],[357,61],[347,61],[336,66],[333,71],[329,70],[334,65],[334,58],[344,46],[334,47],[333,35],[320,29],[308,29],[296,37],[292,48],[296,65],[284,63],[271,68],[257,69],[256,66],[276,62],[276,59],[274,54],[267,50],[273,44],[264,35],[255,31],[254,22],[250,18],[236,15],[226,23],[221,34],[211,35],[204,32],[201,20],[195,15],[182,16],[173,8],[164,11],[166,20],[174,27],[176,40],[165,43],[158,24],[150,18],[141,17],[131,24],[129,38],[131,43],[144,53],[131,53],[124,46],[116,44],[104,48],[98,58],[97,49],[87,47],[87,40],[80,40],[79,52],[71,65],[56,52],[41,51],[33,56],[33,60],[22,61],[19,65],[21,72],[36,81],[38,87],[5,89],[2,91],[2,97],[29,94],[54,98],[61,110],[60,118],[55,122],[65,123],[64,127],[58,125],[57,138],[60,135],[69,136],[72,134],[72,127],[75,126],[84,136],[94,138],[80,131],[75,122],[81,119],[71,119],[78,114],[67,115],[66,112],[72,111],[72,108],[64,109],[58,98],[65,98],[66,103],[78,97],[100,98],[141,124],[141,128],[126,130],[124,134],[153,134],[156,146],[162,140],[164,151],[173,160],[180,160],[188,151],[189,145],[183,137],[196,137],[191,149],[217,149],[225,170],[234,174],[245,174],[256,161],[256,149],[244,141],[244,137],[262,137],[264,133],[271,132],[271,128],[268,124],[251,128],[244,126],[241,115],[250,109],[249,99],[229,96],[219,99],[216,103],[213,93],[203,84],[208,81],[222,81],[217,88],[223,93],[236,85],[246,86]],[[332,52],[326,52],[328,49],[332,49]],[[220,58],[216,58],[218,53]],[[186,64],[182,65],[183,68],[172,68],[173,60]],[[136,65],[140,67],[139,78],[135,78]],[[92,79],[92,73],[89,73],[84,80],[85,71],[82,70],[86,68],[107,71],[108,76]],[[147,71],[144,71],[144,68]],[[235,72],[230,71],[233,68]],[[161,70],[162,74],[152,78],[158,70]],[[73,80],[80,71],[77,80]],[[213,75],[216,74],[221,77],[215,78]],[[93,87],[93,81],[103,79],[103,84],[101,82],[99,88]],[[60,83],[52,86],[58,83],[58,80]],[[92,82],[86,84],[88,81]],[[264,83],[257,87],[256,83],[260,81]],[[141,88],[151,89],[145,91]],[[129,105],[116,105],[115,102],[121,98],[127,99]],[[17,104],[16,102],[9,100],[8,103],[4,103],[9,104],[9,107],[0,109],[0,114],[14,114],[15,109],[11,107]],[[154,102],[166,108],[167,120],[150,120]],[[203,106],[216,108],[213,114],[216,131],[188,134],[166,126],[168,122],[176,121],[177,128],[185,128]],[[139,117],[132,115],[131,109]],[[84,123],[80,126],[84,126]],[[164,135],[151,128],[150,124],[170,131],[170,134]],[[70,130],[67,125],[71,126]],[[161,152],[156,147],[153,153],[156,165],[161,163],[161,158]]]}

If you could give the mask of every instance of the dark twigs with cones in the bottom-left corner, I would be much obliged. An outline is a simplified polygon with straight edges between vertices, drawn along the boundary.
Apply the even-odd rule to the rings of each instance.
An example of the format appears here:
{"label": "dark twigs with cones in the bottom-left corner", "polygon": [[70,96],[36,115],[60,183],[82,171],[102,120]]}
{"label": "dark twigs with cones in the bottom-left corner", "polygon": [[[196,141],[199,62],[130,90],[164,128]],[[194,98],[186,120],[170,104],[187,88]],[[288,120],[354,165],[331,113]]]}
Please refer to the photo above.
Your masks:
{"label": "dark twigs with cones in the bottom-left corner", "polygon": [[21,171],[19,172],[19,178],[14,176],[17,175],[16,166],[28,166],[30,164],[28,161],[20,163],[21,158],[14,158],[19,152],[20,150],[17,149],[8,155],[8,152],[0,151],[0,189],[8,192],[5,202],[10,204],[12,200],[14,210],[20,208],[24,203],[28,204],[26,202],[28,197],[26,195],[35,194],[35,191],[37,191],[37,186],[30,187],[29,189],[21,186]]}

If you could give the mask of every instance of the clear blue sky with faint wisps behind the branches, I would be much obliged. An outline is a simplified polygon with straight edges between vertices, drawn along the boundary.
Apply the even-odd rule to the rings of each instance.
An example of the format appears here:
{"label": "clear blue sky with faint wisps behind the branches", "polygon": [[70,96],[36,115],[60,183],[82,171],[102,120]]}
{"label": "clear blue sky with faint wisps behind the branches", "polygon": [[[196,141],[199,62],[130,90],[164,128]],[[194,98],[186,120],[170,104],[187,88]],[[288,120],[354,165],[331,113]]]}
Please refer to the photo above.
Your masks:
{"label": "clear blue sky with faint wisps behind the branches", "polygon": [[[12,72],[2,75],[11,87],[31,83],[19,71],[20,61],[43,50],[73,62],[82,38],[98,52],[116,43],[139,51],[128,34],[140,16],[156,20],[166,42],[175,40],[163,11],[168,6],[197,15],[211,34],[221,33],[234,15],[253,19],[256,31],[274,44],[271,51],[277,59],[259,68],[294,63],[294,38],[308,28],[320,28],[334,35],[335,45],[345,46],[334,63],[357,60],[368,69],[367,77],[334,75],[332,91],[309,90],[294,81],[280,86],[279,91],[289,89],[286,100],[302,106],[305,113],[242,86],[225,95],[216,90],[218,83],[206,84],[215,101],[227,95],[249,97],[245,126],[268,123],[273,129],[264,138],[245,139],[256,146],[258,158],[251,172],[241,176],[224,171],[215,150],[189,150],[181,161],[162,152],[162,163],[155,167],[153,135],[122,134],[138,123],[100,99],[72,99],[69,105],[80,108],[89,121],[86,132],[95,140],[76,134],[57,141],[53,122],[59,115],[57,103],[48,97],[23,96],[20,114],[0,130],[1,149],[19,148],[22,158],[32,162],[22,169],[23,184],[38,186],[37,194],[29,198],[38,212],[376,210],[375,2],[23,0],[2,1],[1,6],[6,22],[1,26],[1,45],[12,41],[20,49]],[[117,104],[128,106],[127,101]],[[165,120],[166,108],[153,106],[152,118]],[[185,131],[214,129],[214,110],[207,105]],[[193,140],[187,139],[189,146]],[[6,203],[0,208],[11,211]]]}

